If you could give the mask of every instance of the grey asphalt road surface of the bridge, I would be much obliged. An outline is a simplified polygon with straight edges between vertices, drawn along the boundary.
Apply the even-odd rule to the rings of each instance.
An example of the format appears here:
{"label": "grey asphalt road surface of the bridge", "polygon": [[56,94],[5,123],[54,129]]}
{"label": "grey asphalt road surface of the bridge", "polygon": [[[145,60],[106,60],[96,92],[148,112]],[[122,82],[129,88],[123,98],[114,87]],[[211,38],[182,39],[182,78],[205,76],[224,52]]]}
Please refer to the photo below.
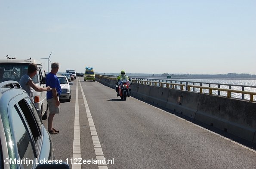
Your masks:
{"label": "grey asphalt road surface of the bridge", "polygon": [[[80,152],[82,160],[97,159],[96,136],[91,134],[93,120],[101,153],[106,161],[114,159],[108,168],[256,169],[256,151],[136,98],[121,101],[114,89],[101,83],[79,79],[72,81],[71,102],[62,102],[61,113],[53,120],[53,127],[60,130],[51,135],[55,159],[71,167],[73,153]],[[80,151],[73,151],[76,97]],[[43,123],[47,126],[47,120]],[[80,166],[98,168],[97,164]]]}

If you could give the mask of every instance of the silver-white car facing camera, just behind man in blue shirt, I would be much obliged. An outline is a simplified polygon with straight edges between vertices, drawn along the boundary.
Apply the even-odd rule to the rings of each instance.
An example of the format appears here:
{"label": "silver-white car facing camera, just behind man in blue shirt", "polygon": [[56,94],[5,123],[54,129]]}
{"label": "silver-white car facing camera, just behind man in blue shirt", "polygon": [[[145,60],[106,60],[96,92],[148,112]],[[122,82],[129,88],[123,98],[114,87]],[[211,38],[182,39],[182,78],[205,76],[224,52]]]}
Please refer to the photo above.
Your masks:
{"label": "silver-white car facing camera, just behind man in blue shirt", "polygon": [[67,100],[71,101],[71,85],[73,85],[72,82],[68,82],[68,79],[64,75],[56,75],[59,79],[60,86],[62,88],[62,93],[59,95],[60,100]]}

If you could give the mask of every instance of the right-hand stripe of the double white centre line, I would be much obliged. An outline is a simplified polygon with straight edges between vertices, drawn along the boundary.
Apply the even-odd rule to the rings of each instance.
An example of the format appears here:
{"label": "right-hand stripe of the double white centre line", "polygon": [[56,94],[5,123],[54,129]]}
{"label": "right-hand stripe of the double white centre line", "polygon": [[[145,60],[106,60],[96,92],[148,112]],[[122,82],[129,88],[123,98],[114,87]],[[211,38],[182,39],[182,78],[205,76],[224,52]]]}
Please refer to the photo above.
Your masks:
{"label": "right-hand stripe of the double white centre line", "polygon": [[[92,136],[92,139],[93,139],[93,147],[94,147],[96,159],[97,159],[97,161],[98,160],[104,160],[105,157],[104,157],[104,154],[103,154],[103,151],[102,151],[102,146],[99,142],[99,137],[98,137],[98,134],[97,134],[94,122],[93,122],[93,118],[92,118],[91,112],[89,110],[89,106],[87,104],[87,101],[86,101],[86,98],[85,98],[80,80],[79,80],[79,85],[80,85],[81,92],[82,92],[82,95],[83,95],[84,106],[85,106],[85,110],[86,110],[86,114],[87,114],[87,119],[88,119],[88,122],[89,122],[91,136]],[[98,164],[98,167],[99,167],[99,169],[108,169],[107,164]]]}

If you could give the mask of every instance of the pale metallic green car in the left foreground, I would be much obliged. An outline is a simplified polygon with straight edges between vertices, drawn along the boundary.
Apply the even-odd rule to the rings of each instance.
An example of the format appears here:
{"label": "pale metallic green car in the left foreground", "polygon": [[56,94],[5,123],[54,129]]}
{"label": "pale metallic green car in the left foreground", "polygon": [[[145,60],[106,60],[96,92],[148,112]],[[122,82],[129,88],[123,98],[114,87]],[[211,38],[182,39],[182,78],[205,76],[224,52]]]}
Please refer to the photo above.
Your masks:
{"label": "pale metallic green car in the left foreground", "polygon": [[[41,163],[41,160],[54,160],[55,155],[52,138],[39,114],[28,93],[17,81],[0,83],[1,169],[52,168],[52,164]],[[14,162],[11,163],[11,160]],[[24,162],[19,163],[21,160]],[[70,167],[67,163],[59,163],[55,164],[55,168]]]}

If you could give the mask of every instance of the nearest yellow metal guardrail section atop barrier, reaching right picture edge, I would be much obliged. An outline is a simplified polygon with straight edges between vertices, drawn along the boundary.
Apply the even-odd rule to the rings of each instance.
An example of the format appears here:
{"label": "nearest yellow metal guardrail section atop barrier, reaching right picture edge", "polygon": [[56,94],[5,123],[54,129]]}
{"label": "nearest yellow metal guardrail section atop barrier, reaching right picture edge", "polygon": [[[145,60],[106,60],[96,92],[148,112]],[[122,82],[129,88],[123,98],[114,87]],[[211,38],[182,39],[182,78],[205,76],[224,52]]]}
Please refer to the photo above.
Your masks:
{"label": "nearest yellow metal guardrail section atop barrier, reaching right picture edge", "polygon": [[192,88],[199,88],[200,93],[203,93],[203,89],[208,89],[209,90],[209,95],[212,95],[213,90],[227,92],[227,98],[231,98],[231,93],[246,94],[246,95],[250,95],[250,102],[253,102],[253,95],[256,95],[256,92],[246,92],[246,91],[232,90],[232,89],[220,89],[220,88],[215,88],[215,87],[194,86],[194,85],[187,85],[187,87],[188,87],[188,92],[190,91],[191,87]]}

